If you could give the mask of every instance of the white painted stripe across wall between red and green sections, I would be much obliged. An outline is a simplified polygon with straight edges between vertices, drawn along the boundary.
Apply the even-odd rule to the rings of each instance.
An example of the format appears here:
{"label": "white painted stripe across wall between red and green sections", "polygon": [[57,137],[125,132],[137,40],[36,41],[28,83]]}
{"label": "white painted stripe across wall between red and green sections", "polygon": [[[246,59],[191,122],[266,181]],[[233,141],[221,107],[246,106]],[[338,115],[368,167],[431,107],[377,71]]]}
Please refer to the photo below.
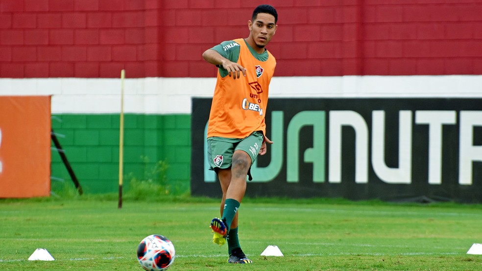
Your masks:
{"label": "white painted stripe across wall between red and green sections", "polygon": [[[212,97],[216,78],[126,79],[124,112],[191,113]],[[0,78],[0,95],[52,95],[52,113],[120,112],[120,79]],[[482,97],[482,75],[273,77],[270,97]]]}

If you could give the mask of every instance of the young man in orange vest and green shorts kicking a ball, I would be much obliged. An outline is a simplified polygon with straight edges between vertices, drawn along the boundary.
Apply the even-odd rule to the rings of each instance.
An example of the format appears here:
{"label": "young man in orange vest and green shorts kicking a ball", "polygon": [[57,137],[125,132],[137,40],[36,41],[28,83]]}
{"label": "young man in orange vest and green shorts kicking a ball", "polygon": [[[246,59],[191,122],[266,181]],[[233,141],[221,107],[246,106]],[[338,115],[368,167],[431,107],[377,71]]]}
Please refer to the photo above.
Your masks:
{"label": "young man in orange vest and green shorts kicking a ball", "polygon": [[248,21],[249,36],[222,42],[202,57],[218,69],[208,125],[208,158],[221,184],[221,219],[211,222],[213,242],[228,242],[229,263],[252,263],[238,240],[238,208],[246,191],[246,175],[256,157],[266,153],[265,110],[276,66],[265,49],[278,14],[270,5],[255,8]]}

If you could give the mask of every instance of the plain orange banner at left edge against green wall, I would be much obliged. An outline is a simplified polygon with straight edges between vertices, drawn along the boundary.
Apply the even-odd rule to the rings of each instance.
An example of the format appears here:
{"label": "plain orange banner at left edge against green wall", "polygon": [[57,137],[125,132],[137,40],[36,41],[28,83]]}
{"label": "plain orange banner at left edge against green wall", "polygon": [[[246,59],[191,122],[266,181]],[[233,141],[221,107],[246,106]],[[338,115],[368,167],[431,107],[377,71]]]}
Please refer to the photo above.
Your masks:
{"label": "plain orange banner at left edge against green wall", "polygon": [[0,198],[50,195],[50,96],[0,96]]}

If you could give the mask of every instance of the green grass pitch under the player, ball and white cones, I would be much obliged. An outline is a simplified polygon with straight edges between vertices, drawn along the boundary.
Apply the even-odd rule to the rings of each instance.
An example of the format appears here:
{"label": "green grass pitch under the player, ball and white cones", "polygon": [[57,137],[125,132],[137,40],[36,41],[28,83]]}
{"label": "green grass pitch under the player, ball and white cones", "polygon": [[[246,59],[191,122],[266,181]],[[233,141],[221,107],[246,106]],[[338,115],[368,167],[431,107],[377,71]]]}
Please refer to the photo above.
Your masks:
{"label": "green grass pitch under the player, ball and white cones", "polygon": [[[218,201],[115,196],[0,200],[0,270],[142,270],[139,242],[167,236],[169,270],[482,270],[481,205],[245,199],[240,240],[251,265],[231,265],[211,241]],[[264,257],[268,245],[284,257]],[[28,261],[46,248],[55,261]]]}

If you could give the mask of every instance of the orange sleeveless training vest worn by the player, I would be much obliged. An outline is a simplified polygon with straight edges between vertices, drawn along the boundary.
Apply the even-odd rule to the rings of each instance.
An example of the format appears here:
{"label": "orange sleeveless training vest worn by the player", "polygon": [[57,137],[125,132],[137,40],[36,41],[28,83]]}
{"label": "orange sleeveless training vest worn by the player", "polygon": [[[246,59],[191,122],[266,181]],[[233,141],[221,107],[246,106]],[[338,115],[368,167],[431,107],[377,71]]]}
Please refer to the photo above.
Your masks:
{"label": "orange sleeveless training vest worn by the player", "polygon": [[222,78],[217,72],[208,137],[244,138],[255,131],[266,135],[268,90],[276,60],[267,51],[268,59],[260,61],[252,55],[244,39],[233,41],[240,45],[238,64],[246,69],[246,76]]}

